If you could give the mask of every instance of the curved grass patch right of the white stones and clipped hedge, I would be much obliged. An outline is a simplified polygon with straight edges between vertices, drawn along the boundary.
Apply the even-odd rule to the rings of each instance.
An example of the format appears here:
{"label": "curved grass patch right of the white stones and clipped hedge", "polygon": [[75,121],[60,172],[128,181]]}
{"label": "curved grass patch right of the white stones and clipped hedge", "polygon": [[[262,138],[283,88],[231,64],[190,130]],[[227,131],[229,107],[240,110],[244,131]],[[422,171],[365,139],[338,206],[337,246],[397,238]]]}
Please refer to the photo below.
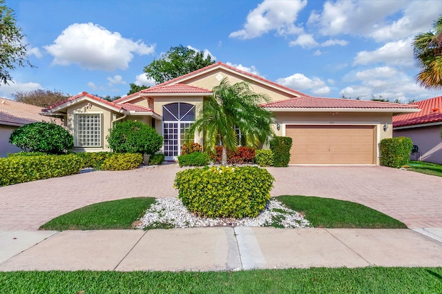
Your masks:
{"label": "curved grass patch right of the white stones and clipped hedge", "polygon": [[276,199],[305,215],[315,228],[407,228],[397,219],[354,202],[292,195]]}

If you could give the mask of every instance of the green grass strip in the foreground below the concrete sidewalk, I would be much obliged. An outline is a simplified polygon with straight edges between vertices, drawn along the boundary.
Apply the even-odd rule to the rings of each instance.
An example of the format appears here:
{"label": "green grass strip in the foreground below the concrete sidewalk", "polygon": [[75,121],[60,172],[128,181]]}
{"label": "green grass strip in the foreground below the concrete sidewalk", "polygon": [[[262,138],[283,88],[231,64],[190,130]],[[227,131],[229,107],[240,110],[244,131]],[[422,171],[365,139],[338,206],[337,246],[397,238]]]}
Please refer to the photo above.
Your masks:
{"label": "green grass strip in the foreground below the concrete sidewalk", "polygon": [[1,293],[442,293],[442,268],[0,273]]}

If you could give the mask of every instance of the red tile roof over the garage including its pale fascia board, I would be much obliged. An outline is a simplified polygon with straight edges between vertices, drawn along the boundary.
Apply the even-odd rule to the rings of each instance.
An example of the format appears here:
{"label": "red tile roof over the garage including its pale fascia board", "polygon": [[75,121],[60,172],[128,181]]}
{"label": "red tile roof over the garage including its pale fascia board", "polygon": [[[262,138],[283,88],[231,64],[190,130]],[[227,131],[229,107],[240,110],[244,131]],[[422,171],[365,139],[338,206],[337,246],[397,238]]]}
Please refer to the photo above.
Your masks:
{"label": "red tile roof over the garage including its pale fascia board", "polygon": [[419,111],[417,106],[410,104],[397,104],[390,102],[379,101],[365,101],[352,99],[336,99],[336,98],[322,98],[322,97],[295,97],[280,101],[264,104],[262,107],[269,108],[275,111],[294,111],[312,109],[324,111],[353,111],[355,109],[367,111],[373,110],[376,112],[416,112]]}

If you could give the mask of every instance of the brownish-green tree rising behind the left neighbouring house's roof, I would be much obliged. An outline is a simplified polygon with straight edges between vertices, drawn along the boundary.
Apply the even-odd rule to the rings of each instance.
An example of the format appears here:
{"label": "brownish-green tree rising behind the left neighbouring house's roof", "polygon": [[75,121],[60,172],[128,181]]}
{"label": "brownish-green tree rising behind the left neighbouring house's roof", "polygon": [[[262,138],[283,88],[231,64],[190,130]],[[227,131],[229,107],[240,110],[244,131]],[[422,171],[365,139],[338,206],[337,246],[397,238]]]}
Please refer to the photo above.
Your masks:
{"label": "brownish-green tree rising behind the left neighbouring house's roof", "polygon": [[52,104],[56,104],[58,101],[63,101],[70,97],[70,95],[66,95],[59,90],[46,89],[32,90],[29,92],[15,92],[12,96],[14,96],[15,101],[40,106],[42,108],[47,108]]}

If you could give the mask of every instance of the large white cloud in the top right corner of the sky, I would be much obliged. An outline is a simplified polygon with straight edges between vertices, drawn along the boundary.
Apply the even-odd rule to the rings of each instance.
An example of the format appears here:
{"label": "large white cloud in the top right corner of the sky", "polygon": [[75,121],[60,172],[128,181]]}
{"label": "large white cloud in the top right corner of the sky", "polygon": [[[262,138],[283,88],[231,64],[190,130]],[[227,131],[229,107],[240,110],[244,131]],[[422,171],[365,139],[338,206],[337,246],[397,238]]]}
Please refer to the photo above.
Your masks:
{"label": "large white cloud in the top right corner of the sky", "polygon": [[[442,1],[327,1],[312,12],[308,24],[323,35],[363,35],[378,42],[405,39],[426,32],[442,10]],[[399,17],[397,17],[399,14]]]}

